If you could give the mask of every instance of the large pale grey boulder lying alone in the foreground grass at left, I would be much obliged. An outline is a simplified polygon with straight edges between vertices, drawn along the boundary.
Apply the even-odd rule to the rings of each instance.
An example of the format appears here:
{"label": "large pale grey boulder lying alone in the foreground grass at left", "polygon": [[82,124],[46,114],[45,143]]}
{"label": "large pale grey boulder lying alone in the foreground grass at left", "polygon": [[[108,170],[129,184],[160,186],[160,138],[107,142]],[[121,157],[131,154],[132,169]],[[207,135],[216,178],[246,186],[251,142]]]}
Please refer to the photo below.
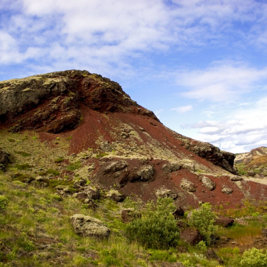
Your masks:
{"label": "large pale grey boulder lying alone in the foreground grass at left", "polygon": [[83,214],[75,214],[70,218],[74,232],[80,236],[96,236],[107,238],[110,230],[106,225],[97,218],[86,216]]}

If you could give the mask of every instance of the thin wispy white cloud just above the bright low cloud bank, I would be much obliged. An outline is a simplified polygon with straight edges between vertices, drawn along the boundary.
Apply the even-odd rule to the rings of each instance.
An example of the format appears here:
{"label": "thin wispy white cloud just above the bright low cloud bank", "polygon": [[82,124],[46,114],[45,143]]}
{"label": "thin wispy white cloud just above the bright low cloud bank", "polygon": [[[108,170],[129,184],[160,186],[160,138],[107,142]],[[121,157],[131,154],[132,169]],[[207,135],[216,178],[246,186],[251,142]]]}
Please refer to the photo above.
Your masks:
{"label": "thin wispy white cloud just above the bright low cloud bank", "polygon": [[267,68],[248,67],[244,62],[218,61],[203,70],[177,74],[180,86],[188,88],[184,97],[201,101],[233,102],[245,93],[258,89],[267,80]]}

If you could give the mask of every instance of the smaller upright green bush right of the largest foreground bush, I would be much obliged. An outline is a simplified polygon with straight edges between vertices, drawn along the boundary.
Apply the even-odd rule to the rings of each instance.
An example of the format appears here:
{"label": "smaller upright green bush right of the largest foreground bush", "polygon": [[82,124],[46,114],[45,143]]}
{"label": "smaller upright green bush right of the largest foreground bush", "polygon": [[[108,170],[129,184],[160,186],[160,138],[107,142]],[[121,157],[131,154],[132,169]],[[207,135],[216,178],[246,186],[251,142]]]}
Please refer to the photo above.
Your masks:
{"label": "smaller upright green bush right of the largest foreground bush", "polygon": [[211,211],[211,204],[204,203],[197,210],[193,210],[188,224],[194,226],[204,237],[207,244],[211,242],[211,235],[215,234],[217,227],[214,225],[216,215]]}

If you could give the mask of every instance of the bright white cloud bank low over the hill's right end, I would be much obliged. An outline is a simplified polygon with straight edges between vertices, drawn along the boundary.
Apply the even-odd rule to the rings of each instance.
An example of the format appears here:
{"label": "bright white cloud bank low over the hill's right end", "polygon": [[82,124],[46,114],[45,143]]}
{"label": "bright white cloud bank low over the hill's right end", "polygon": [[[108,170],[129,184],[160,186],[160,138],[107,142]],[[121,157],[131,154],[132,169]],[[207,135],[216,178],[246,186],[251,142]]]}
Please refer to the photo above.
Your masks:
{"label": "bright white cloud bank low over the hill's right end", "polygon": [[232,118],[224,121],[199,121],[195,138],[210,142],[223,150],[245,152],[257,146],[267,146],[267,96],[250,106],[233,110]]}

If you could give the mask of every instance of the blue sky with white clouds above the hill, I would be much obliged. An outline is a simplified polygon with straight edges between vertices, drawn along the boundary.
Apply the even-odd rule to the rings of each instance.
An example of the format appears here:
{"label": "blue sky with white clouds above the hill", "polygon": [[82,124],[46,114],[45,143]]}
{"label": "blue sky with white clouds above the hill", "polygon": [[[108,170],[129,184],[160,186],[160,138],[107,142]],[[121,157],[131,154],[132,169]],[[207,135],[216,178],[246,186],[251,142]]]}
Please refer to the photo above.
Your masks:
{"label": "blue sky with white clouds above the hill", "polygon": [[0,0],[0,80],[73,69],[182,135],[267,146],[266,0]]}

